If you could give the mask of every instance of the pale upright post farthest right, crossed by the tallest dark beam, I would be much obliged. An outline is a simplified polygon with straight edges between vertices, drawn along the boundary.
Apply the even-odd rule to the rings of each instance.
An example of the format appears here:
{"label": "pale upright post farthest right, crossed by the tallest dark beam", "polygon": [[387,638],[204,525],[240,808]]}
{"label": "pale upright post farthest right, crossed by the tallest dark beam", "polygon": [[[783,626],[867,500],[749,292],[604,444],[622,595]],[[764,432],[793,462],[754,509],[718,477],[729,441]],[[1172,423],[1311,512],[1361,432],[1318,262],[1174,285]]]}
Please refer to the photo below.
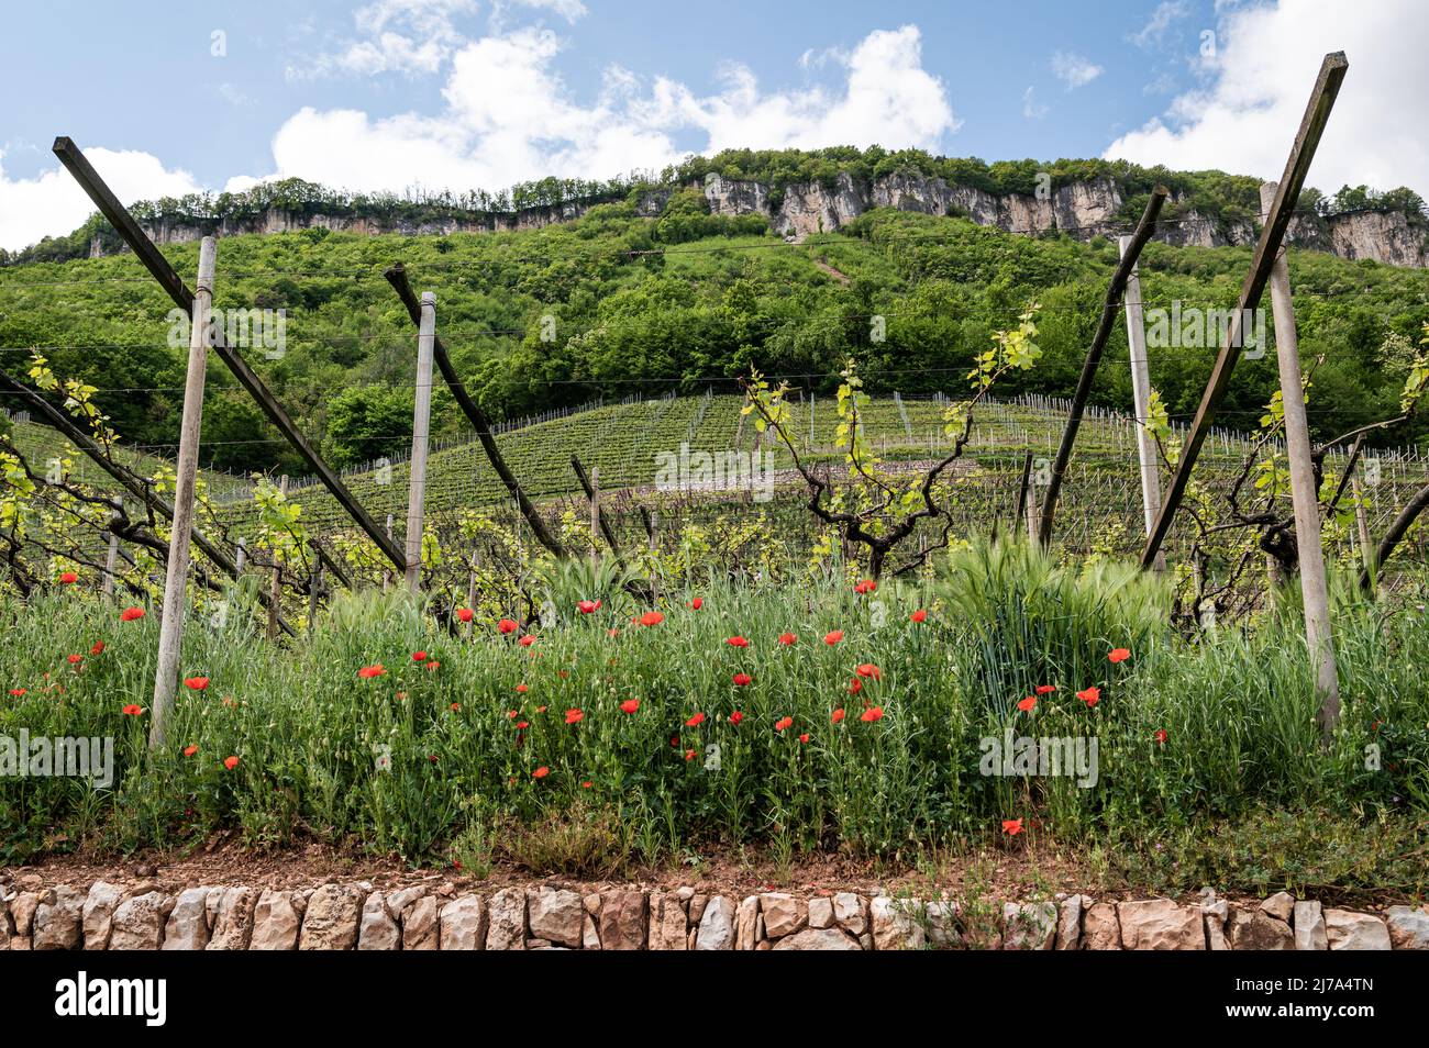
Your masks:
{"label": "pale upright post farthest right, crossed by the tallest dark beam", "polygon": [[[1275,203],[1278,186],[1260,186],[1260,207]],[[1285,248],[1270,267],[1270,308],[1275,314],[1275,353],[1280,366],[1280,403],[1285,408],[1285,451],[1290,458],[1290,501],[1295,504],[1295,545],[1305,598],[1305,641],[1315,667],[1315,690],[1320,700],[1320,730],[1329,735],[1339,720],[1339,674],[1335,668],[1335,635],[1330,630],[1330,598],[1325,581],[1325,550],[1320,545],[1320,495],[1310,458],[1310,427],[1305,417],[1305,386],[1300,380],[1300,343],[1290,304],[1290,270]]]}

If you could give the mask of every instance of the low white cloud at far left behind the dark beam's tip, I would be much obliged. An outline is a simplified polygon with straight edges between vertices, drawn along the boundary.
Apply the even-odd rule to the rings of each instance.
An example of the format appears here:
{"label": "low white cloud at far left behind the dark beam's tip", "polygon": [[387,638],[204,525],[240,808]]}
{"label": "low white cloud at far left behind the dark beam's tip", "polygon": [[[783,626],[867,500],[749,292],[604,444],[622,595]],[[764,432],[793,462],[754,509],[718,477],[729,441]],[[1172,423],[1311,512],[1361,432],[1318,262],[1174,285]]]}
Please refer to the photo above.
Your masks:
{"label": "low white cloud at far left behind the dark beam's tip", "polygon": [[[84,156],[124,204],[200,190],[187,171],[170,171],[149,153],[89,148]],[[34,178],[9,178],[0,151],[0,247],[16,251],[44,236],[69,233],[93,211],[94,204],[64,168],[56,166]]]}

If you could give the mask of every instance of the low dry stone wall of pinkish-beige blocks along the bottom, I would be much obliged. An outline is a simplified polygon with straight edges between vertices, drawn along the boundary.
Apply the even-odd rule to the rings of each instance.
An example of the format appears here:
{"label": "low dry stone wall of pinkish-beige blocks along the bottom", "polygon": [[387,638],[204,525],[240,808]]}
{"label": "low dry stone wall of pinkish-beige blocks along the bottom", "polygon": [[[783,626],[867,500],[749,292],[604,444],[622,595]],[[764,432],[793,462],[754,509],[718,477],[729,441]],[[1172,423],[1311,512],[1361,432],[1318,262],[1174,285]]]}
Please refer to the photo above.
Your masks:
{"label": "low dry stone wall of pinkish-beige blocks along the bottom", "polygon": [[833,892],[580,892],[553,885],[472,892],[453,884],[299,891],[151,884],[0,892],[0,949],[1429,949],[1429,907],[1325,908],[1206,890],[1199,902],[979,902]]}

